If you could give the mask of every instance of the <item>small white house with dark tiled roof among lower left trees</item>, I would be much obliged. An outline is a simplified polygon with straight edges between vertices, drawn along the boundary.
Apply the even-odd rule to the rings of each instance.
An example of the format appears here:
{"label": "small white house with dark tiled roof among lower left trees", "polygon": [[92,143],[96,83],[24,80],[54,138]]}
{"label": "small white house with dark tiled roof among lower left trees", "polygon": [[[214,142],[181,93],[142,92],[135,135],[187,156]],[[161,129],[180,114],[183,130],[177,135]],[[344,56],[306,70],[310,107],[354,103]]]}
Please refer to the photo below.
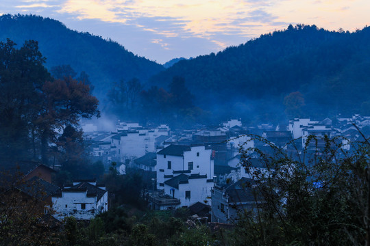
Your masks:
{"label": "small white house with dark tiled roof among lower left trees", "polygon": [[72,187],[64,187],[51,200],[55,211],[53,216],[59,220],[67,216],[91,219],[108,210],[108,191],[97,187],[93,180],[73,182]]}

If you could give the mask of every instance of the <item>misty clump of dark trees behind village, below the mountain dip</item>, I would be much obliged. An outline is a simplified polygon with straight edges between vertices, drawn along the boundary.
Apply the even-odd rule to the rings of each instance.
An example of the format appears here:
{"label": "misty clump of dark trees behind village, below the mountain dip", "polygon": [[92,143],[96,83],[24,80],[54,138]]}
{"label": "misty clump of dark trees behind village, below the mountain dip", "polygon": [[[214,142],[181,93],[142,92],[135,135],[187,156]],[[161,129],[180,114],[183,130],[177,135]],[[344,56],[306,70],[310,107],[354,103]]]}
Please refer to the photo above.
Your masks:
{"label": "misty clump of dark trees behind village, below the mountain dip", "polygon": [[151,86],[147,89],[136,78],[121,79],[108,92],[104,108],[121,120],[138,120],[142,124],[170,124],[171,127],[188,127],[208,122],[208,112],[196,107],[194,96],[182,77],[173,77],[169,89]]}

